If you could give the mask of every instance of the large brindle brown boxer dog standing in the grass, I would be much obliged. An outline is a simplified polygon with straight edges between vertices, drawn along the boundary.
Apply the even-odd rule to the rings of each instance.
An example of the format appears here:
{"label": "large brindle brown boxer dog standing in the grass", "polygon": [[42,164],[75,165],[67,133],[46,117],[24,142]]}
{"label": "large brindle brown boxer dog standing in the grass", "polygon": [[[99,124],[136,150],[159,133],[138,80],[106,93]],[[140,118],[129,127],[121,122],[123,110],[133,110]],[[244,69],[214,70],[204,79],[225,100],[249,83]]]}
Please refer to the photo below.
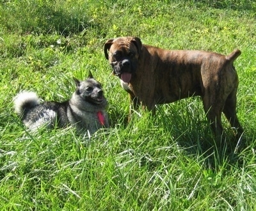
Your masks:
{"label": "large brindle brown boxer dog standing in the grass", "polygon": [[216,137],[223,134],[222,112],[237,136],[243,134],[236,114],[238,77],[233,65],[241,51],[228,56],[207,51],[168,51],[127,36],[108,40],[104,53],[134,109],[140,103],[154,112],[156,104],[199,95]]}

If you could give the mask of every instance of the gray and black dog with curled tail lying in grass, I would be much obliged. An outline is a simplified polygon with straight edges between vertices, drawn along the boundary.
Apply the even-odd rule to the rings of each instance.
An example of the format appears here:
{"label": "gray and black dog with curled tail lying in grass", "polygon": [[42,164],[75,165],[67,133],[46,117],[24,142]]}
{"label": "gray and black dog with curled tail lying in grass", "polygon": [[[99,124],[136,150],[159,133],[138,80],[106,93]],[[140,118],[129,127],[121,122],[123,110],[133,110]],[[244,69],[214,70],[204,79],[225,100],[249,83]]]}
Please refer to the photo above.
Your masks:
{"label": "gray and black dog with curled tail lying in grass", "polygon": [[35,92],[22,91],[14,98],[15,112],[22,122],[31,130],[45,126],[53,128],[74,125],[79,134],[109,127],[106,107],[101,84],[93,79],[89,72],[88,79],[76,82],[76,91],[70,100],[65,102],[42,102]]}

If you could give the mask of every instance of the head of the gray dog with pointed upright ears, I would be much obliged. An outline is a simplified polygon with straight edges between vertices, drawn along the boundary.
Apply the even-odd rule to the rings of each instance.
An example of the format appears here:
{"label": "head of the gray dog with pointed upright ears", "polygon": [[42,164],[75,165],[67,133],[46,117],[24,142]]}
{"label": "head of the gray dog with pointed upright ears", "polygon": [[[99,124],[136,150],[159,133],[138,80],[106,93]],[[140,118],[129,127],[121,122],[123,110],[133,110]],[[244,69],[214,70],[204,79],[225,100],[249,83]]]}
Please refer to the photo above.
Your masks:
{"label": "head of the gray dog with pointed upright ears", "polygon": [[92,73],[89,71],[89,76],[85,81],[79,81],[74,78],[76,82],[76,95],[95,105],[106,105],[106,98],[104,97],[102,86],[100,82],[93,79]]}

